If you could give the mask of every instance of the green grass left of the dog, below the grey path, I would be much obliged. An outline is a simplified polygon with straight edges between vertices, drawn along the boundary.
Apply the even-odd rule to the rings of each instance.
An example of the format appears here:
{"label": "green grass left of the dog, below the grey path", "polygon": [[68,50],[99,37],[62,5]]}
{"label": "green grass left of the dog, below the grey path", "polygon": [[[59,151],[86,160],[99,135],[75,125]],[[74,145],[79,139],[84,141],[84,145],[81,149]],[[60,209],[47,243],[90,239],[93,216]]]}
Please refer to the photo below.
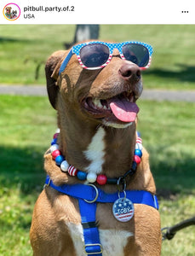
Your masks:
{"label": "green grass left of the dog, below the grey path", "polygon": [[[32,255],[32,209],[44,182],[43,152],[55,131],[46,97],[0,96],[0,255]],[[32,111],[33,108],[33,111]]]}

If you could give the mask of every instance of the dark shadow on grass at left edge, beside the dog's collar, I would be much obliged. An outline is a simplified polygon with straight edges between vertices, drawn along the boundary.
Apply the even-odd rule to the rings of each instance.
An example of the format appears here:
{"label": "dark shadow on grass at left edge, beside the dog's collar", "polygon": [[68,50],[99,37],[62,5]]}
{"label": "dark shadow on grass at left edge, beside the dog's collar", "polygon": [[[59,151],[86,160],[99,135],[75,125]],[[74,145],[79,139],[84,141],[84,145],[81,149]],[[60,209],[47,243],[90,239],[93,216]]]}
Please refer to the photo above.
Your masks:
{"label": "dark shadow on grass at left edge, beside the dog's collar", "polygon": [[24,195],[41,191],[45,172],[43,153],[37,148],[3,148],[0,155],[0,186],[19,188]]}

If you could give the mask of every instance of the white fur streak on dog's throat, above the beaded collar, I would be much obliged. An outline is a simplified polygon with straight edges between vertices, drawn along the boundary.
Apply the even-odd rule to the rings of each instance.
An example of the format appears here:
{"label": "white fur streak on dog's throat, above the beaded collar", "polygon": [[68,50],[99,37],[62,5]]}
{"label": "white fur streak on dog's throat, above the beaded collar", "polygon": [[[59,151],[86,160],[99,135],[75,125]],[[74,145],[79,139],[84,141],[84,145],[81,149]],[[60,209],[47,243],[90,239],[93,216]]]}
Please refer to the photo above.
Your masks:
{"label": "white fur streak on dog's throat, above the beaded collar", "polygon": [[105,134],[106,131],[100,127],[92,138],[87,150],[84,151],[86,159],[90,161],[89,166],[86,168],[87,172],[94,172],[98,174],[102,171],[105,155]]}

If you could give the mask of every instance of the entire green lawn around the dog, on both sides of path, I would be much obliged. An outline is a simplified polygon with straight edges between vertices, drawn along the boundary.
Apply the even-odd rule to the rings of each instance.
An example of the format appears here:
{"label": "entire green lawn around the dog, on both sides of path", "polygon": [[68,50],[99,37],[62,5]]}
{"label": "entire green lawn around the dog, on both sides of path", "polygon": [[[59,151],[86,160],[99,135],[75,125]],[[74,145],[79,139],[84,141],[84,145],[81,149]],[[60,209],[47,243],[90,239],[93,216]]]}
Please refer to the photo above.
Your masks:
{"label": "entire green lawn around the dog, on both sides of path", "polygon": [[[195,25],[100,25],[100,40],[152,44],[145,89],[194,90]],[[43,84],[44,63],[74,38],[74,25],[0,25],[0,84]],[[38,70],[36,78],[36,70]],[[194,216],[195,105],[139,102],[162,227]],[[46,97],[0,96],[0,255],[32,255],[29,228],[44,182],[43,152],[56,128]],[[33,111],[32,111],[33,110]],[[194,227],[163,241],[163,256],[194,256]]]}

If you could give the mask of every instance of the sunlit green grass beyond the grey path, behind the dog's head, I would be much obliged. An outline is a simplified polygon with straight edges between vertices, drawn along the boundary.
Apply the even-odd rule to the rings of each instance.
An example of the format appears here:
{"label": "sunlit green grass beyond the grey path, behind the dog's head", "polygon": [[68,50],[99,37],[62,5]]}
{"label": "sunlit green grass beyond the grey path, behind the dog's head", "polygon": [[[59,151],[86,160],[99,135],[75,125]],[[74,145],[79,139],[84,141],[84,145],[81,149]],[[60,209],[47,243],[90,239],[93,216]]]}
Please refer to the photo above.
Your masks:
{"label": "sunlit green grass beyond the grey path, behind the dog's head", "polygon": [[[195,25],[100,25],[100,40],[152,44],[145,88],[194,90]],[[52,52],[74,38],[74,25],[0,25],[1,84],[45,84],[44,65]],[[39,77],[35,70],[40,64]]]}

